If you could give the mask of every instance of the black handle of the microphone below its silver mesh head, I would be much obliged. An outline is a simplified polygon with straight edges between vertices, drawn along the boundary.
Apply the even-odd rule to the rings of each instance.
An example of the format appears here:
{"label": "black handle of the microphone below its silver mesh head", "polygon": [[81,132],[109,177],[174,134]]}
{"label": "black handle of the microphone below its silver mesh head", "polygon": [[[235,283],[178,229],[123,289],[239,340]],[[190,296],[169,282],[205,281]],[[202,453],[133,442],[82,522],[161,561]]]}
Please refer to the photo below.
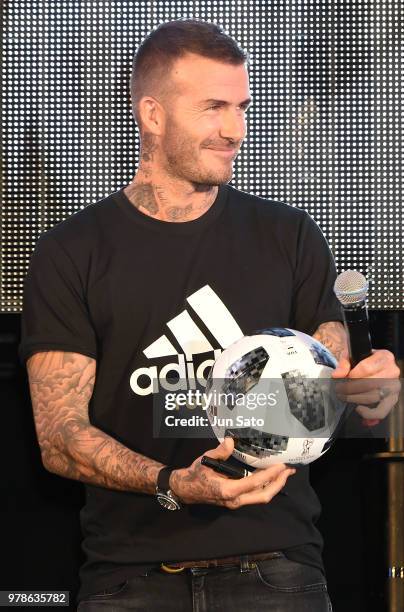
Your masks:
{"label": "black handle of the microphone below its silver mesh head", "polygon": [[369,334],[369,318],[366,302],[343,306],[345,329],[348,334],[349,356],[354,368],[359,361],[370,357],[372,342]]}

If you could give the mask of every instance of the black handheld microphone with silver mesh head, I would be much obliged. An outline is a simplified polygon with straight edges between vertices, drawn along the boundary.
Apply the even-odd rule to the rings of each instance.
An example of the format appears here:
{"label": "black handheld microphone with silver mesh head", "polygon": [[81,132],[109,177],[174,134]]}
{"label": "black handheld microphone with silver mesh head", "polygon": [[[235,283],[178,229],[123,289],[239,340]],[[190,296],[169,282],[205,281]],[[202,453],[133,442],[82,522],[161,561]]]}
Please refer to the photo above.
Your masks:
{"label": "black handheld microphone with silver mesh head", "polygon": [[368,288],[366,278],[356,270],[341,272],[334,283],[334,293],[342,305],[353,368],[372,354],[366,302]]}

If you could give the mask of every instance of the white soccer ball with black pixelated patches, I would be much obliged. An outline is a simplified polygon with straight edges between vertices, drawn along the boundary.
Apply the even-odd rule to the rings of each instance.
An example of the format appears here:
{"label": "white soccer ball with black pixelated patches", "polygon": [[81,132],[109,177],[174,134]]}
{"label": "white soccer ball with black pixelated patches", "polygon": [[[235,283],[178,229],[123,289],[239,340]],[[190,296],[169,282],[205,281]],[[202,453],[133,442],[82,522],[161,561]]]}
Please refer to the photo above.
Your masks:
{"label": "white soccer ball with black pixelated patches", "polygon": [[272,327],[229,346],[206,384],[207,416],[233,456],[254,468],[303,465],[332,445],[345,409],[331,373],[337,361],[311,336]]}

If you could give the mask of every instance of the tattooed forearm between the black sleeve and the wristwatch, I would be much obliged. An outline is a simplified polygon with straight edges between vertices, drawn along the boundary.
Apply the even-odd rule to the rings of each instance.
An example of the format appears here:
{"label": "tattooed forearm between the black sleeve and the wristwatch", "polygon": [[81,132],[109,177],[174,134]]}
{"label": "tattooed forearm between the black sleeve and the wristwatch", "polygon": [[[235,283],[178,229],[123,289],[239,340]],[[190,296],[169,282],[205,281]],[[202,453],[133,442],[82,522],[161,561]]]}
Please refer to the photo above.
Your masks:
{"label": "tattooed forearm between the black sleeve and the wristwatch", "polygon": [[27,361],[35,428],[44,467],[110,489],[154,493],[163,464],[93,427],[88,403],[96,361],[78,353],[35,353]]}

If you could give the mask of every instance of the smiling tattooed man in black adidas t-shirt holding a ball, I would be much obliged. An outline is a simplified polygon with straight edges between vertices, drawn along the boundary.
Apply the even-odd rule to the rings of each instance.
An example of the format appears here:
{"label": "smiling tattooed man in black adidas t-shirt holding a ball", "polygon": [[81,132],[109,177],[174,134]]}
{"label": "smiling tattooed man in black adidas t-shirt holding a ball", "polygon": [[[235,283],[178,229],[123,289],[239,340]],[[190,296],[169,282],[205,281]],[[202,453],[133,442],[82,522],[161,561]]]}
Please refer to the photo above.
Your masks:
{"label": "smiling tattooed man in black adidas t-shirt holding a ball", "polygon": [[232,440],[154,436],[170,372],[206,378],[256,329],[313,334],[340,359],[336,377],[398,376],[387,351],[350,372],[309,215],[228,185],[246,59],[213,24],[151,32],[131,80],[135,177],[47,231],[31,260],[20,355],[44,466],[86,484],[83,611],[331,609],[307,468],[234,481],[200,462],[228,458]]}

